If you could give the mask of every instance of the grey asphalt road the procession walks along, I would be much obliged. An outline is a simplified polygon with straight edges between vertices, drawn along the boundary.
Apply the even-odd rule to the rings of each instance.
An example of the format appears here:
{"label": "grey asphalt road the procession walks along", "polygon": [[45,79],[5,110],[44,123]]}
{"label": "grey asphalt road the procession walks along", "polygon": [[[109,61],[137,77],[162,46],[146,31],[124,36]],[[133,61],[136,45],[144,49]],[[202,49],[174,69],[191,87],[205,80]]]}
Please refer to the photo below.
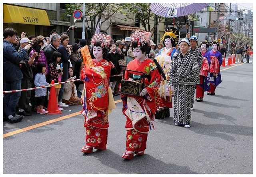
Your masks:
{"label": "grey asphalt road the procession walks along", "polygon": [[[126,131],[118,102],[109,115],[106,150],[88,155],[80,151],[85,131],[84,118],[78,114],[3,138],[3,173],[252,174],[252,58],[249,64],[223,69],[216,95],[205,93],[204,102],[194,102],[190,128],[174,126],[172,109],[170,118],[155,119],[144,156],[121,158]],[[81,106],[70,106],[63,114],[34,113],[19,123],[3,122],[3,134],[80,110]]]}

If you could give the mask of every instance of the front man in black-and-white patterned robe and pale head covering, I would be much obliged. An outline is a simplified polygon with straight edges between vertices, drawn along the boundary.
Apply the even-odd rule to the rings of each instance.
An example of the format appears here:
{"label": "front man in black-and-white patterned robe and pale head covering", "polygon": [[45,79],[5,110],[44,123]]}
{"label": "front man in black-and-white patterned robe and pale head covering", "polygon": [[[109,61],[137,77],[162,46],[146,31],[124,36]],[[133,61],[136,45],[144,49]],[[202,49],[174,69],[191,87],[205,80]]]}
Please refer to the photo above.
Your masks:
{"label": "front man in black-and-white patterned robe and pale head covering", "polygon": [[190,127],[191,87],[200,83],[198,62],[189,50],[190,43],[187,38],[180,41],[180,53],[174,55],[170,66],[169,84],[174,87],[174,125]]}

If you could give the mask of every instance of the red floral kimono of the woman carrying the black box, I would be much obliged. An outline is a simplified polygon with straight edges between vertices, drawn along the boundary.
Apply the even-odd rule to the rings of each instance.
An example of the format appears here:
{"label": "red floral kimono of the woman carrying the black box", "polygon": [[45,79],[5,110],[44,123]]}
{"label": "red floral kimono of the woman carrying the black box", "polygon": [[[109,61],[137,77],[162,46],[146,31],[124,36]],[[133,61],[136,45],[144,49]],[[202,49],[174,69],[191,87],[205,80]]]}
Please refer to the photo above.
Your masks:
{"label": "red floral kimono of the woman carrying the black box", "polygon": [[[121,94],[123,100],[123,114],[126,116],[126,150],[144,151],[148,131],[154,128],[152,120],[159,106],[160,97],[158,88],[160,85],[160,73],[155,63],[150,59],[140,62],[138,59],[130,61],[127,69],[142,71],[146,74],[144,88],[148,94],[144,97]],[[126,71],[125,79],[141,79],[140,74]]]}

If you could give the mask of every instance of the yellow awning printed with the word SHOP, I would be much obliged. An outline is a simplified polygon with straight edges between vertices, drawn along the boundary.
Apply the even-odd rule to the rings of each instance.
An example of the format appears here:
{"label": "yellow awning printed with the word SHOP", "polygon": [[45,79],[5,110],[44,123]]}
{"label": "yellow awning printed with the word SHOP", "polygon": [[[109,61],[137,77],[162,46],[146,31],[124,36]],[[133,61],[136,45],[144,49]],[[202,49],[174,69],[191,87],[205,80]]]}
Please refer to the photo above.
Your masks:
{"label": "yellow awning printed with the word SHOP", "polygon": [[50,26],[45,10],[4,4],[4,23]]}

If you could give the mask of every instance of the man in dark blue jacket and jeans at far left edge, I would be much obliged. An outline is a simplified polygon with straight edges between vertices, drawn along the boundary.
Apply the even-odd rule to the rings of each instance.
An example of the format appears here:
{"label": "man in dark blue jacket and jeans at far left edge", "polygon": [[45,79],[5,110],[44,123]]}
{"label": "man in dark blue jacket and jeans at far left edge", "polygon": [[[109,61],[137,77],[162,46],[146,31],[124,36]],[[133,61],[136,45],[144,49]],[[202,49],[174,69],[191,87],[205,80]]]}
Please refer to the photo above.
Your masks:
{"label": "man in dark blue jacket and jeans at far left edge", "polygon": [[[12,43],[16,40],[17,32],[13,28],[4,29],[3,41],[3,70],[4,90],[20,90],[23,74],[20,69],[20,61],[24,58],[31,44],[26,45],[19,53]],[[6,93],[3,98],[4,115],[10,123],[20,122],[23,116],[16,114],[16,105],[20,98],[20,92]]]}

